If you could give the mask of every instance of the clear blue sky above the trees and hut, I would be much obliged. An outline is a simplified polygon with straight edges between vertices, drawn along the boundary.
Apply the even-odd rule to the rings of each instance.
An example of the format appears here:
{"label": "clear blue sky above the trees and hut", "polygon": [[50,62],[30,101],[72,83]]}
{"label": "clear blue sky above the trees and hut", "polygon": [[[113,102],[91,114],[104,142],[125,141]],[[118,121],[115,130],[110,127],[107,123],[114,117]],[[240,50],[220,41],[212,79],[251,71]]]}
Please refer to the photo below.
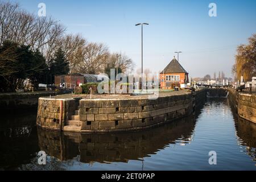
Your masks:
{"label": "clear blue sky above the trees and hut", "polygon": [[[20,0],[23,9],[37,14],[46,4],[47,16],[60,20],[68,32],[105,43],[124,52],[141,67],[141,28],[144,28],[144,68],[162,71],[182,51],[180,63],[192,77],[224,71],[231,77],[236,47],[256,33],[256,1],[48,1]],[[217,17],[208,15],[216,3]],[[136,68],[135,68],[136,69]]]}

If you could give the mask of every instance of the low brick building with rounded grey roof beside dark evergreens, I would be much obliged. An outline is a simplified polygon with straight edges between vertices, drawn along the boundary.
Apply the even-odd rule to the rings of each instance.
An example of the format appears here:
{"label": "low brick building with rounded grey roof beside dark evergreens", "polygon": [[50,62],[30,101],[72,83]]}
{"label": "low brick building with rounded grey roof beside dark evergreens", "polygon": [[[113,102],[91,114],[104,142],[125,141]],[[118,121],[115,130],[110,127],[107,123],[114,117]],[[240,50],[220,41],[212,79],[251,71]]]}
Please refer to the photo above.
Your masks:
{"label": "low brick building with rounded grey roof beside dark evergreens", "polygon": [[89,75],[82,73],[75,73],[71,75],[56,75],[54,84],[65,88],[74,88],[79,84],[86,84],[88,82],[101,82],[104,79],[108,79],[104,75]]}

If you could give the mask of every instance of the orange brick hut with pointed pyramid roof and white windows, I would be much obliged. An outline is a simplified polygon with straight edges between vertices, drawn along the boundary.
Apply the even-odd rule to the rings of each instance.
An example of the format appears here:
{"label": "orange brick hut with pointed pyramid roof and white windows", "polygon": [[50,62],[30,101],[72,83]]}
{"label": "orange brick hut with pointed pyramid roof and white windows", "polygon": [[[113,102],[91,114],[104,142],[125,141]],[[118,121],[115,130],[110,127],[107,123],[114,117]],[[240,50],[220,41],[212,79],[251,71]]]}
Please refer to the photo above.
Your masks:
{"label": "orange brick hut with pointed pyramid roof and white windows", "polygon": [[188,72],[174,59],[160,73],[160,87],[171,89],[174,86],[188,83]]}

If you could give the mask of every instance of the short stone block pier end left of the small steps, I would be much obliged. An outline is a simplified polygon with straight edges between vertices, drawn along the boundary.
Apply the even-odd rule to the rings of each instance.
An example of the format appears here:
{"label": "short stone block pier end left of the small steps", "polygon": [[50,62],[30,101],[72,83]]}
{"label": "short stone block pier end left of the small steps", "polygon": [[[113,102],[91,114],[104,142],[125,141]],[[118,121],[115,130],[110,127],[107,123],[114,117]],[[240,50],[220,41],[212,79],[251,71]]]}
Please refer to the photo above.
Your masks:
{"label": "short stone block pier end left of the small steps", "polygon": [[68,116],[73,115],[79,102],[73,99],[63,99],[63,115],[60,123],[60,99],[39,98],[38,116],[36,123],[39,126],[52,130],[60,130],[67,125]]}

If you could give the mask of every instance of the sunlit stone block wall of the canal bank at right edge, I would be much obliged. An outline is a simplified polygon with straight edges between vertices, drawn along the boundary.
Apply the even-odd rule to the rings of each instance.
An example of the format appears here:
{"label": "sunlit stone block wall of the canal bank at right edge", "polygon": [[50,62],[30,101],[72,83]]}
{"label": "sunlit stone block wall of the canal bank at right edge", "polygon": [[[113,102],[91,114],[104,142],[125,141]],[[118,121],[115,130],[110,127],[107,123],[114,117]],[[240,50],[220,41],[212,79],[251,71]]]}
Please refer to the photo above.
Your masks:
{"label": "sunlit stone block wall of the canal bank at right edge", "polygon": [[240,93],[238,96],[238,115],[256,123],[256,95]]}

